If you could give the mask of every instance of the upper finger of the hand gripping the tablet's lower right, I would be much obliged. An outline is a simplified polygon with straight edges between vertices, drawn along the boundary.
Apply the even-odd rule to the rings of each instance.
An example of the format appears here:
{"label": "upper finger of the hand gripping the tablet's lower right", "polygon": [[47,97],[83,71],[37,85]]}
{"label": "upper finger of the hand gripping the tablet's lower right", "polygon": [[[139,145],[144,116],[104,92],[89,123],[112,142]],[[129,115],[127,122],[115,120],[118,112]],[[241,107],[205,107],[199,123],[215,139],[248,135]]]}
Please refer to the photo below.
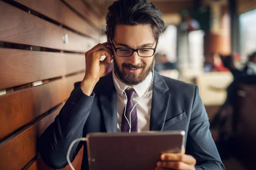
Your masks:
{"label": "upper finger of the hand gripping the tablet's lower right", "polygon": [[163,153],[161,155],[162,161],[180,161],[185,164],[195,165],[196,160],[193,156],[181,154],[181,153]]}

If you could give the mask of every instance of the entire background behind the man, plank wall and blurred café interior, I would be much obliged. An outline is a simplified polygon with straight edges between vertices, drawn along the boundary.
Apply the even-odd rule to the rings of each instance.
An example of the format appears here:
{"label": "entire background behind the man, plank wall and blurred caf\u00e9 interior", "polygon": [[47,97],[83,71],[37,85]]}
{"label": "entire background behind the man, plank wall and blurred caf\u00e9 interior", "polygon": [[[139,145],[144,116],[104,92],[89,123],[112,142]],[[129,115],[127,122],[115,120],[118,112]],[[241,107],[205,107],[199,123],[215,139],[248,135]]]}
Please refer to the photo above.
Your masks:
{"label": "entire background behind the man, plank wall and blurred caf\u00e9 interior", "polygon": [[[0,170],[52,170],[38,137],[106,42],[113,1],[0,0]],[[151,1],[165,21],[155,70],[198,85],[226,169],[255,170],[256,0]]]}

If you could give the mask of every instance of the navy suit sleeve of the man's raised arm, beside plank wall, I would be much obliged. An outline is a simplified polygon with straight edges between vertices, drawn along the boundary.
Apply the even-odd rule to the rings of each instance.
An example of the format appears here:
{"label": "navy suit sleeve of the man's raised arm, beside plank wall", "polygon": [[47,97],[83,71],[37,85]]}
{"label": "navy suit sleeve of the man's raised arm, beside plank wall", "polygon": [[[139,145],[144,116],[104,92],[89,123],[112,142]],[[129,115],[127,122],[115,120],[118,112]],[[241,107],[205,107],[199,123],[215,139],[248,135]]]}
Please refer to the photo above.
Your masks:
{"label": "navy suit sleeve of the man's raised arm, beside plank wall", "polygon": [[[47,127],[41,135],[38,149],[44,162],[52,168],[64,168],[67,166],[67,150],[73,140],[81,138],[84,124],[92,108],[94,93],[87,96],[75,84],[67,102],[61,109],[54,122]],[[70,153],[70,161],[73,161],[81,149],[82,143],[77,142]]]}

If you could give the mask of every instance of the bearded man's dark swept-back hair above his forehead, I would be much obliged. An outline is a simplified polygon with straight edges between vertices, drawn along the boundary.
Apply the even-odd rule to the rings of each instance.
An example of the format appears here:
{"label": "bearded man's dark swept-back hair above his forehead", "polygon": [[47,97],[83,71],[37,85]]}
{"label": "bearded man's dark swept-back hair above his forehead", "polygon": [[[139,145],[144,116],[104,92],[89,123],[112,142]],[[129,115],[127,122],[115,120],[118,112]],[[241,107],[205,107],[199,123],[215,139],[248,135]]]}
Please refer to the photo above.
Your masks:
{"label": "bearded man's dark swept-back hair above his forehead", "polygon": [[108,7],[107,34],[112,39],[117,25],[150,25],[157,40],[163,31],[161,11],[148,0],[117,0]]}

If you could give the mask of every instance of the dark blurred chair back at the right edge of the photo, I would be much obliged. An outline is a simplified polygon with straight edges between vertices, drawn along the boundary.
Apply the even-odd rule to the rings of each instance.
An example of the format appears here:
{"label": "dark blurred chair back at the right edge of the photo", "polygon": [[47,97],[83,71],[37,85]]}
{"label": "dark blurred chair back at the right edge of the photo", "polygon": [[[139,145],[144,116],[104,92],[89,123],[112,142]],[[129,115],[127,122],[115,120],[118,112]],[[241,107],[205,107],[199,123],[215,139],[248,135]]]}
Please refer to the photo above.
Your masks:
{"label": "dark blurred chair back at the right edge of the photo", "polygon": [[256,75],[241,77],[237,83],[233,129],[236,156],[248,170],[256,167]]}

